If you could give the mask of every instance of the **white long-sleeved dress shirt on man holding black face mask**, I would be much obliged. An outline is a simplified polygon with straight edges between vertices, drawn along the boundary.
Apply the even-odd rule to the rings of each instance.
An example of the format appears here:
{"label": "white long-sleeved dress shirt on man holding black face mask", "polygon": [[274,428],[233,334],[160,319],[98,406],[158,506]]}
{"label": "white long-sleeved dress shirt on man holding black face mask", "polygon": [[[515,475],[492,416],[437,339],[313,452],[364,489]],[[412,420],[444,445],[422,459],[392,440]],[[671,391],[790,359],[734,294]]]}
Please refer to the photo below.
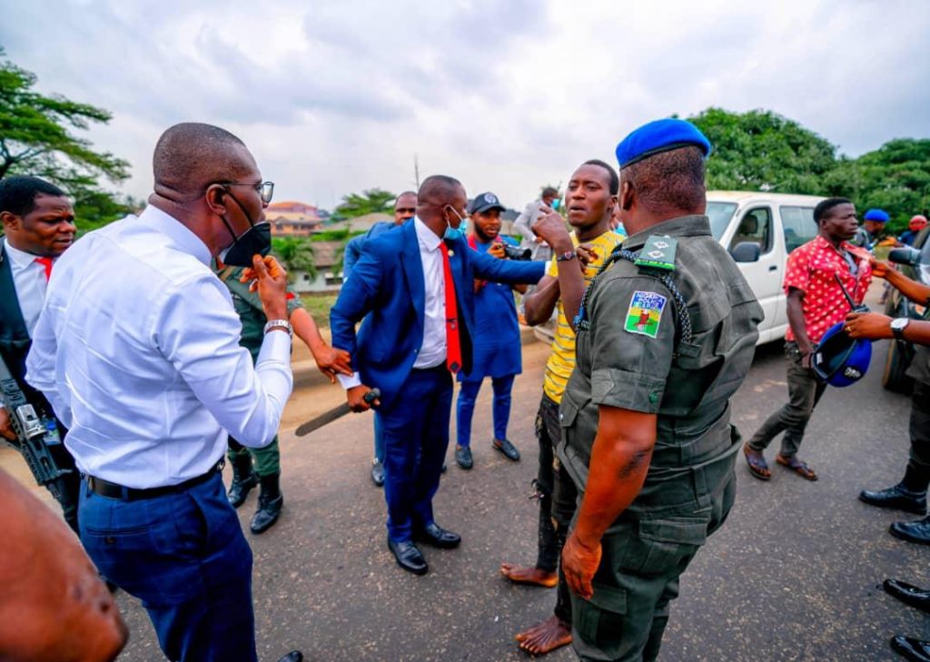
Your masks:
{"label": "white long-sleeved dress shirt on man holding black face mask", "polygon": [[206,473],[240,443],[264,446],[290,395],[290,338],[252,366],[206,245],[149,206],[89,232],[59,258],[26,379],[69,428],[78,468],[128,487]]}

